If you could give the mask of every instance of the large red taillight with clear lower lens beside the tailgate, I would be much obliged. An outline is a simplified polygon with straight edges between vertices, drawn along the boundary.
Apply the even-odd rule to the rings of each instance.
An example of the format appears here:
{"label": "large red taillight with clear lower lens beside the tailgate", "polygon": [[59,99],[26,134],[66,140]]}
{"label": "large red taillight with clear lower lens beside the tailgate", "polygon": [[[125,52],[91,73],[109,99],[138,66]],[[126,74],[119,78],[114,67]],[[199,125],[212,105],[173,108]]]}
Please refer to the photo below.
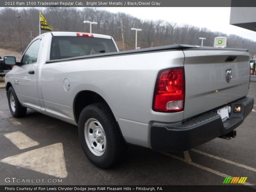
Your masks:
{"label": "large red taillight with clear lower lens beside the tailgate", "polygon": [[184,68],[160,71],[156,81],[153,110],[159,112],[182,111],[184,102]]}

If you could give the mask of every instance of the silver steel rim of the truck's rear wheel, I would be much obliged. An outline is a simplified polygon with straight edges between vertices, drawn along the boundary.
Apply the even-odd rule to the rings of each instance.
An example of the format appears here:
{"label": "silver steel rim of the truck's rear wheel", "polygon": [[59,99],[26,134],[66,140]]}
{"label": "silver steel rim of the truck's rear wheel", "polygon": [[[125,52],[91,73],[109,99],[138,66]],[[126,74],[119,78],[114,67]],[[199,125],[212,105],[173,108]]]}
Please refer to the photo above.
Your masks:
{"label": "silver steel rim of the truck's rear wheel", "polygon": [[90,151],[96,156],[105,152],[107,140],[104,129],[97,119],[89,118],[84,124],[84,137]]}

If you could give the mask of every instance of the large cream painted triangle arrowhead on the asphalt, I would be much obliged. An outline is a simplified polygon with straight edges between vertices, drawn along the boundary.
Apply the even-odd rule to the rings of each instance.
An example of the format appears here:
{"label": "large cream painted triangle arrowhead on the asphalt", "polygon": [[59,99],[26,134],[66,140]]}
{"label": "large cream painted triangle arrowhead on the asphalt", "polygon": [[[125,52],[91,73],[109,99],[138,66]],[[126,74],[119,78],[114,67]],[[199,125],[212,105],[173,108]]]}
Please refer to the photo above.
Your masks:
{"label": "large cream painted triangle arrowhead on the asphalt", "polygon": [[68,176],[62,143],[6,157],[1,159],[0,162],[55,177],[66,178]]}

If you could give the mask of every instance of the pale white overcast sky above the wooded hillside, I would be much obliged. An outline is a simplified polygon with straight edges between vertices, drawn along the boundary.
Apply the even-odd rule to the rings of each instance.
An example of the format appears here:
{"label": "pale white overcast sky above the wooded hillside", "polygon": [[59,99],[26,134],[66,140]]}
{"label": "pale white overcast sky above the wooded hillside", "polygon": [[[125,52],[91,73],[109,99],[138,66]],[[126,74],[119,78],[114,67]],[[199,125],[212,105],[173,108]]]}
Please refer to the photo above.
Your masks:
{"label": "pale white overcast sky above the wooded hillside", "polygon": [[[230,7],[105,7],[110,12],[124,12],[142,20],[166,20],[189,24],[256,41],[256,32],[229,24]],[[143,30],[143,29],[142,29]]]}

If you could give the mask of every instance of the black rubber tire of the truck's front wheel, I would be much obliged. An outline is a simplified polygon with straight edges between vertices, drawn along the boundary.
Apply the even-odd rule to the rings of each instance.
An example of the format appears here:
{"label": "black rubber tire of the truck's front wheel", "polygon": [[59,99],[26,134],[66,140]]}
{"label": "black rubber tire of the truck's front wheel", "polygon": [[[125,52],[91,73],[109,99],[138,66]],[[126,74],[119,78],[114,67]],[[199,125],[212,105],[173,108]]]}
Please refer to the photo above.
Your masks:
{"label": "black rubber tire of the truck's front wheel", "polygon": [[[12,97],[13,96],[13,97]],[[11,97],[12,97],[12,102],[15,103],[15,110],[12,109],[11,107]],[[9,104],[9,108],[10,108],[10,111],[11,111],[11,114],[12,116],[14,117],[23,117],[26,115],[27,113],[27,108],[23,107],[21,104],[20,104],[20,101],[18,100],[17,98],[17,95],[13,89],[13,87],[10,87],[8,89],[8,92],[7,92],[7,98],[8,98],[8,104]]]}

